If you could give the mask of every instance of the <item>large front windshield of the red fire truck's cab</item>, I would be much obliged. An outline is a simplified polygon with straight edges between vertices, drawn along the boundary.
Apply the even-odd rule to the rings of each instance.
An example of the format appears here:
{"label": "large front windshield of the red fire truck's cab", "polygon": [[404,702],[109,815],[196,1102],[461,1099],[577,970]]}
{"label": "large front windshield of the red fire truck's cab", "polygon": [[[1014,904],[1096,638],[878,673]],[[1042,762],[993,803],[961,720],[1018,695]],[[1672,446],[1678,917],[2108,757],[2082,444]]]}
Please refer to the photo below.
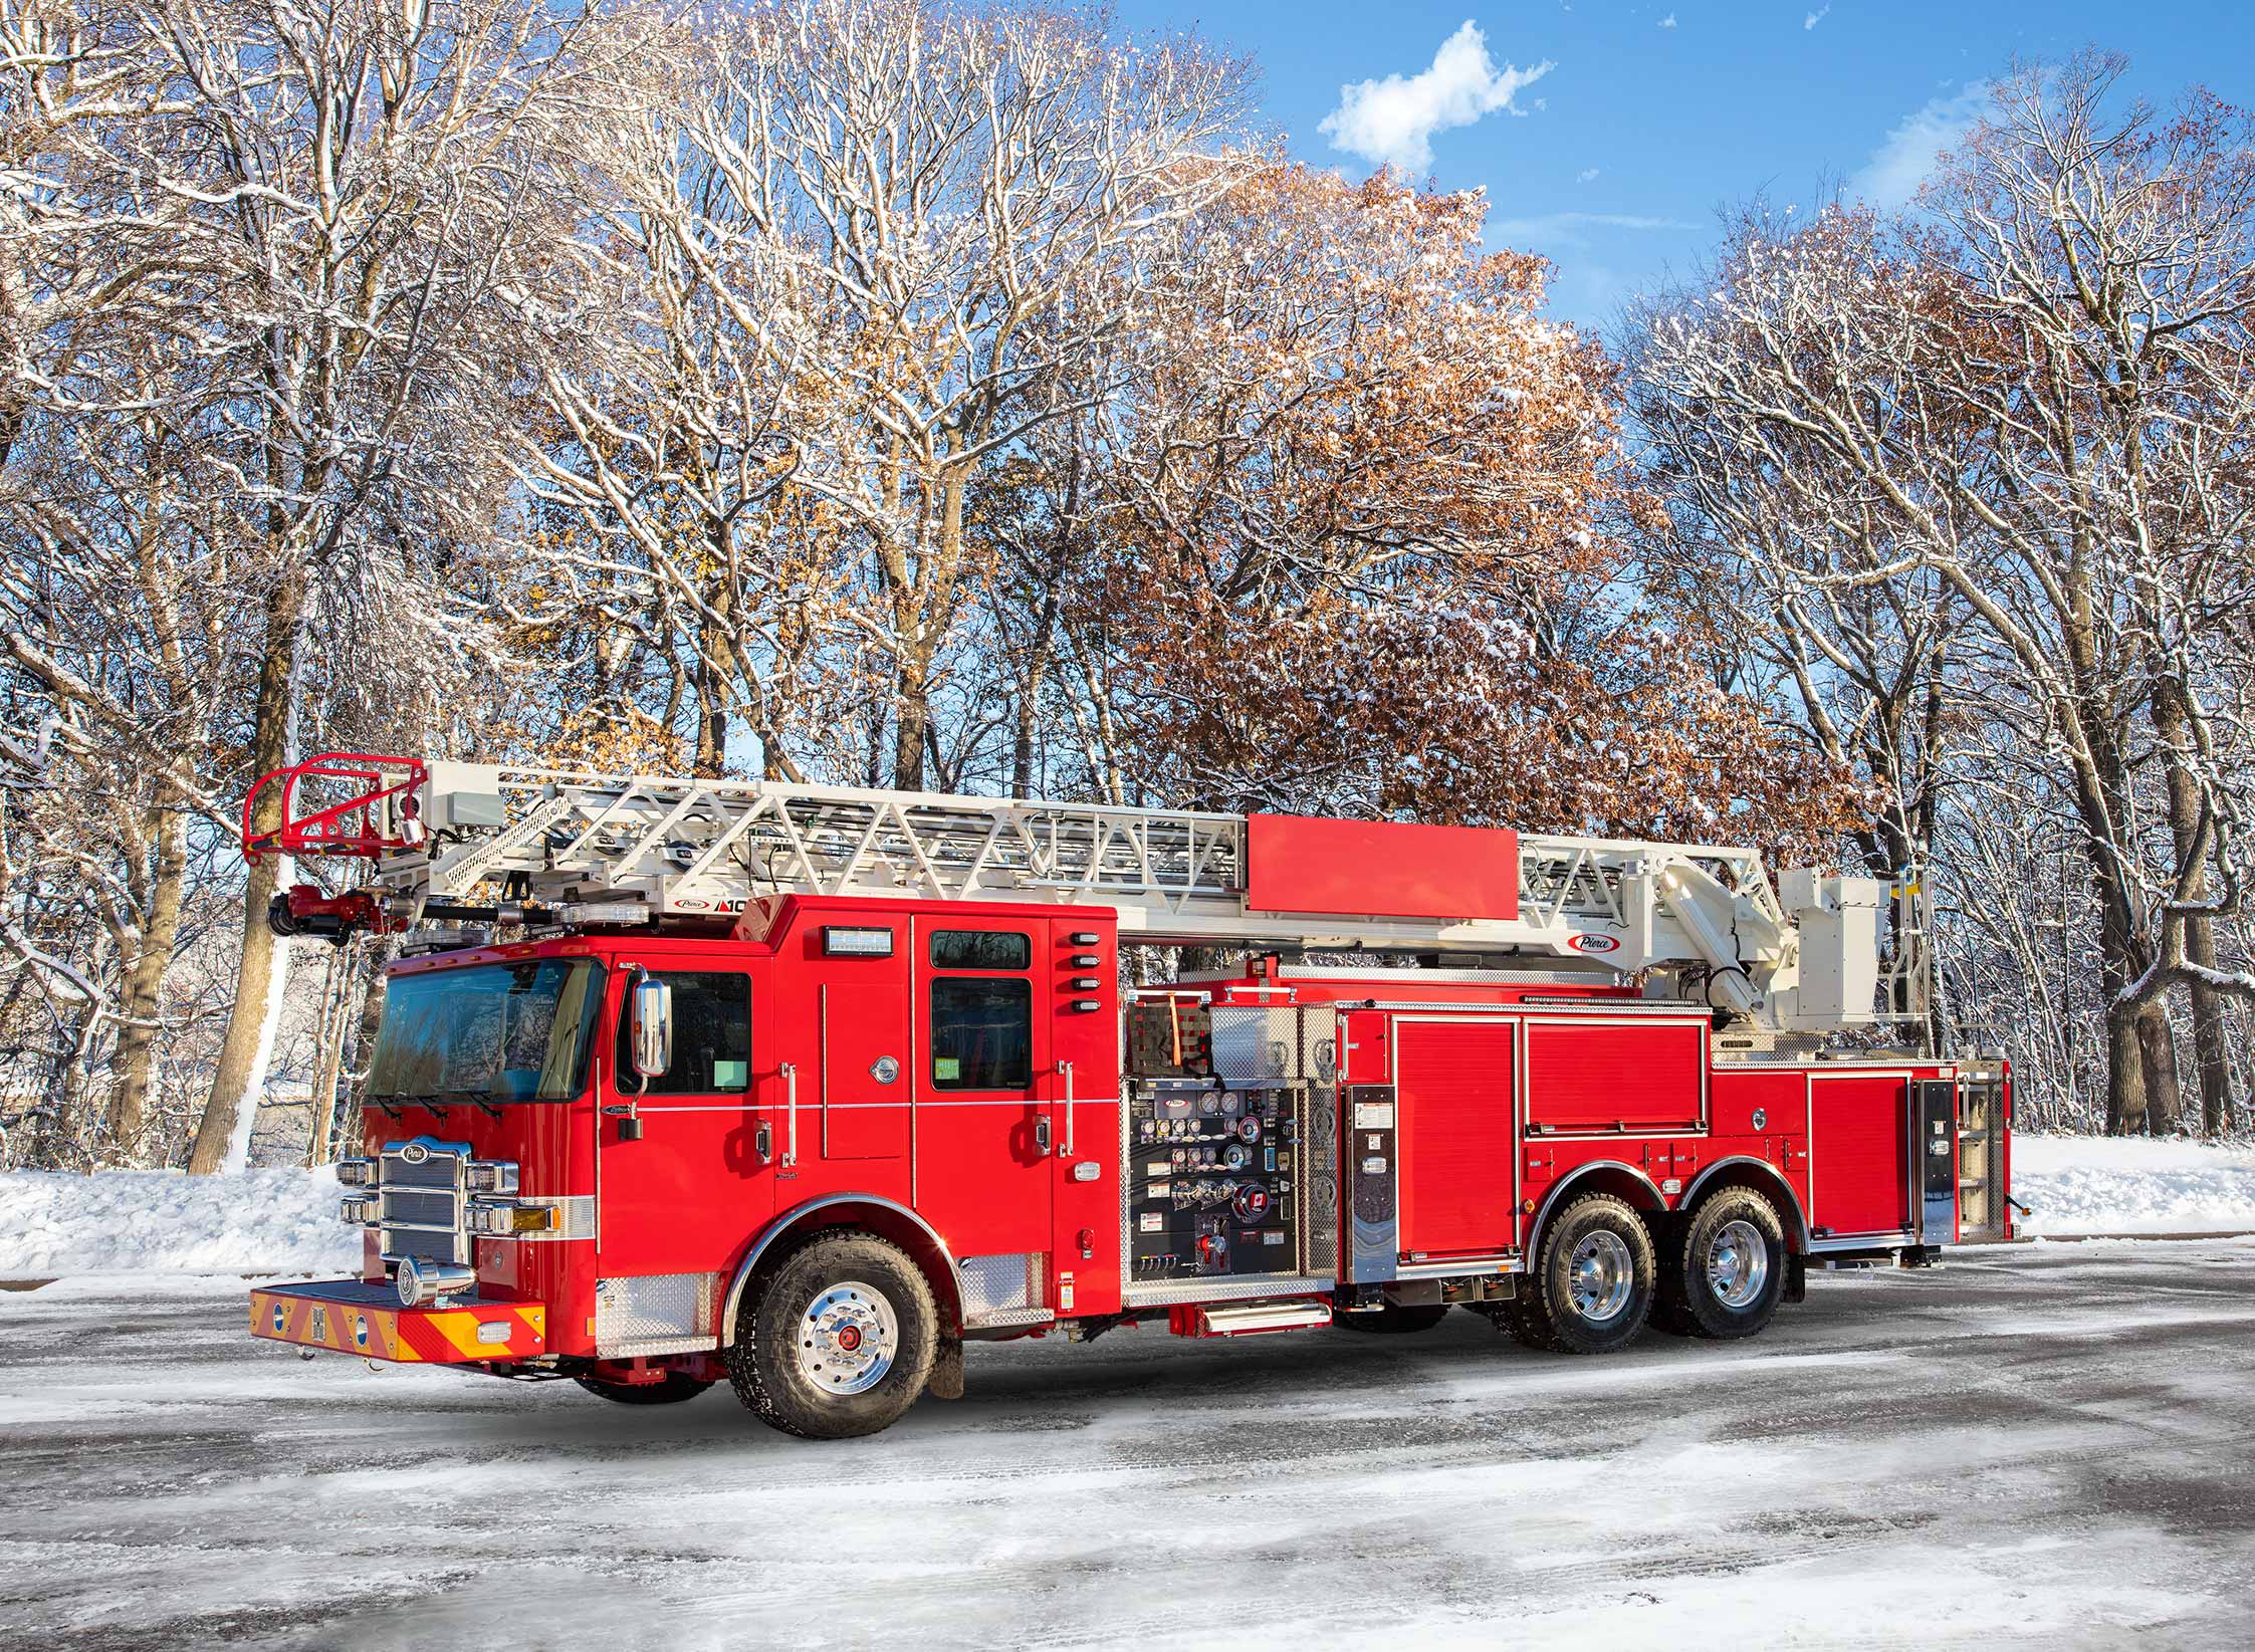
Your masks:
{"label": "large front windshield of the red fire truck's cab", "polygon": [[602,1007],[602,969],[534,958],[395,976],[368,1068],[372,1100],[564,1102]]}

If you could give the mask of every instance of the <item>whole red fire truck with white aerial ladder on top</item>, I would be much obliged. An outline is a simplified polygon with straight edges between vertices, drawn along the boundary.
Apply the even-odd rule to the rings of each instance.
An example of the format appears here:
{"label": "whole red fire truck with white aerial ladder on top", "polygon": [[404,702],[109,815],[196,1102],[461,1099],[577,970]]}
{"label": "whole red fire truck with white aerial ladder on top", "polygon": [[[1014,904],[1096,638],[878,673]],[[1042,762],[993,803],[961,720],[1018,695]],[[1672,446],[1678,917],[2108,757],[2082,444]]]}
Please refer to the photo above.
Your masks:
{"label": "whole red fire truck with white aerial ladder on top", "polygon": [[[963,1343],[1750,1336],[2007,1237],[1924,899],[1741,847],[327,755],[253,854],[397,933],[352,1280],[259,1336],[870,1433]],[[1890,915],[1892,908],[1892,915]],[[1159,951],[1245,962],[1157,974]]]}

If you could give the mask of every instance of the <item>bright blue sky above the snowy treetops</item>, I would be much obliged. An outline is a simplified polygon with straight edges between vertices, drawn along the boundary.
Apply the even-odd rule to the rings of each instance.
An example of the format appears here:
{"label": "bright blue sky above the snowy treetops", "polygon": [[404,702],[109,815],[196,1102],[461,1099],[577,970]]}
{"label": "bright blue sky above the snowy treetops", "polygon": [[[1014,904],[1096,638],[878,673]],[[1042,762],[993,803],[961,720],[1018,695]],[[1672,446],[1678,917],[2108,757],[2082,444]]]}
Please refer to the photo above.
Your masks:
{"label": "bright blue sky above the snowy treetops", "polygon": [[[1369,153],[1430,153],[1418,176],[1484,187],[1488,241],[1549,257],[1556,313],[1585,325],[1698,259],[1725,203],[1811,203],[1840,180],[1905,194],[1969,88],[2016,56],[2095,43],[2126,52],[2126,86],[2156,104],[2190,83],[2255,104],[2255,9],[2219,2],[1121,0],[1118,20],[1254,56],[1263,117],[1301,160],[1360,178]],[[1378,92],[1326,133],[1364,81]],[[1436,113],[1466,124],[1423,135]]]}

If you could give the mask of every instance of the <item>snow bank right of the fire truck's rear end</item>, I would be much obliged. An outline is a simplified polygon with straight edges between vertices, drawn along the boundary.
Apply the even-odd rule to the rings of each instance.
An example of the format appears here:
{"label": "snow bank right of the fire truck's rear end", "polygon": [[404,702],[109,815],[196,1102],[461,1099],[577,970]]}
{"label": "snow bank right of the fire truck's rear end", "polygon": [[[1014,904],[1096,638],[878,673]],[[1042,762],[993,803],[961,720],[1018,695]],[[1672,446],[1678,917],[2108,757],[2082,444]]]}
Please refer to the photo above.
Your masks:
{"label": "snow bank right of the fire truck's rear end", "polygon": [[2023,1233],[2255,1231],[2255,1149],[2140,1136],[2014,1136]]}

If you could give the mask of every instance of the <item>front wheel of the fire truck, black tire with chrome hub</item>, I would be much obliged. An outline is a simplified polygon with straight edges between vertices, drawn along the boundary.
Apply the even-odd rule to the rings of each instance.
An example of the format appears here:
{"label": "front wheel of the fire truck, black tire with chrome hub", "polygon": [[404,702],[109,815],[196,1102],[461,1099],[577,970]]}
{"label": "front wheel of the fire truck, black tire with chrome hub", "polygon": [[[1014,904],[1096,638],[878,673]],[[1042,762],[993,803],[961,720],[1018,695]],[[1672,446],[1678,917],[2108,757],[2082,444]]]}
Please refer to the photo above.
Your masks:
{"label": "front wheel of the fire truck, black tire with chrome hub", "polygon": [[[810,1321],[810,1309],[825,1298],[828,1334]],[[891,1316],[888,1332],[884,1316]],[[852,1348],[841,1341],[848,1332]],[[855,1388],[884,1341],[891,1355],[882,1370]],[[737,1400],[782,1433],[850,1440],[888,1429],[916,1404],[938,1345],[940,1314],[909,1253],[870,1233],[832,1228],[796,1246],[744,1291],[726,1352],[728,1382]]]}

